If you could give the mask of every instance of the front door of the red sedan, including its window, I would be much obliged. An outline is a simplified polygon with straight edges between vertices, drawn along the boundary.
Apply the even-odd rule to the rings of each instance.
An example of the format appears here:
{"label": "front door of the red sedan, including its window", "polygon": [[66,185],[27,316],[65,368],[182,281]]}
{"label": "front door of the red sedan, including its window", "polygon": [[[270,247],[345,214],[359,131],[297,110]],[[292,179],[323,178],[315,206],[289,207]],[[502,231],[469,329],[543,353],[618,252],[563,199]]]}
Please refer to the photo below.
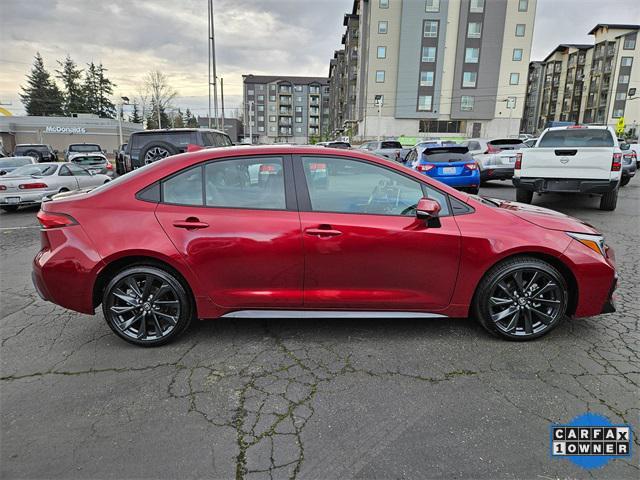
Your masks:
{"label": "front door of the red sedan, including its window", "polygon": [[[305,308],[437,311],[455,286],[460,232],[447,196],[397,170],[332,156],[294,157],[305,248]],[[418,220],[424,196],[440,226]]]}

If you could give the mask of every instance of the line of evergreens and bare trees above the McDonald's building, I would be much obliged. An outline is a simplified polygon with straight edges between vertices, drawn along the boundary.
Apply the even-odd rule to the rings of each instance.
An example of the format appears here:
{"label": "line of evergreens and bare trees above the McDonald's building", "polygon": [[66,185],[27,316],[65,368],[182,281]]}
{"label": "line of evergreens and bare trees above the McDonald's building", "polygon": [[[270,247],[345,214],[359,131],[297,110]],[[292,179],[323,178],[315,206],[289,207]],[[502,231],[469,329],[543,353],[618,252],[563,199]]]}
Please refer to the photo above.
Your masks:
{"label": "line of evergreens and bare trees above the McDonald's building", "polygon": [[[117,85],[109,80],[101,62],[88,63],[83,69],[67,55],[57,63],[58,68],[52,74],[46,69],[40,53],[36,53],[20,93],[27,115],[70,117],[86,113],[100,118],[116,117],[117,107],[111,97]],[[198,120],[189,109],[183,112],[174,107],[176,95],[165,74],[149,72],[130,104],[128,120],[144,123],[148,129],[197,127]]]}

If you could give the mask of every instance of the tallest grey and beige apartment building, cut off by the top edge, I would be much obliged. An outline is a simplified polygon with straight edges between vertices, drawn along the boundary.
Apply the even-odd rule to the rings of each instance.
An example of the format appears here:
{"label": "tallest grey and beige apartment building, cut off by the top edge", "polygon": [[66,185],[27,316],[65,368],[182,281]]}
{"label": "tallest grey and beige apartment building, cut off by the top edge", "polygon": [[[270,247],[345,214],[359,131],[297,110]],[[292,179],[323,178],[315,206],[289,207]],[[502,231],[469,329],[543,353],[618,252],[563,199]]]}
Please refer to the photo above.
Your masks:
{"label": "tallest grey and beige apartment building, cut off by the top edge", "polygon": [[[353,89],[332,89],[340,98],[330,104],[355,111],[332,114],[334,132],[356,140],[517,135],[535,9],[536,0],[354,0],[343,53],[330,64],[332,85],[344,85],[355,66]],[[357,43],[349,42],[353,25]],[[354,51],[350,71],[338,68]]]}

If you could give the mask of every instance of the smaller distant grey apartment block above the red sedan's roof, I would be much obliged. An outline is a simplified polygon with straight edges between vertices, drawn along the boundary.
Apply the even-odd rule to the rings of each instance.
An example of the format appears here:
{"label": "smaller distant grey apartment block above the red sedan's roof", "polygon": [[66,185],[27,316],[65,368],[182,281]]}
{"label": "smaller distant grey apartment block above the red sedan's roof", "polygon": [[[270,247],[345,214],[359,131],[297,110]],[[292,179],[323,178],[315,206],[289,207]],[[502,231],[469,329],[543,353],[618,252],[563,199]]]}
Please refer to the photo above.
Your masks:
{"label": "smaller distant grey apartment block above the red sedan's roof", "polygon": [[[243,75],[245,135],[253,143],[306,144],[329,129],[329,79]],[[251,132],[251,133],[249,133]]]}

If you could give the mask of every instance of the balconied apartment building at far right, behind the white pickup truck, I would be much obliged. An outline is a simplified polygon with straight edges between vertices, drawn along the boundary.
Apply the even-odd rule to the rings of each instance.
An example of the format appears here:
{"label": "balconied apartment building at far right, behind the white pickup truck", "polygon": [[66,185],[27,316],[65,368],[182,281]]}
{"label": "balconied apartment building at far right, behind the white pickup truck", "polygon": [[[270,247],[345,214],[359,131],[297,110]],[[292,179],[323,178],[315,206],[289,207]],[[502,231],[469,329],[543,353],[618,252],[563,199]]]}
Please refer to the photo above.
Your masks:
{"label": "balconied apartment building at far right, behind the white pickup truck", "polygon": [[[591,45],[558,45],[542,62],[542,94],[527,90],[527,106],[539,113],[526,131],[537,133],[550,122],[615,126],[624,118],[627,130],[640,122],[640,25],[598,24]],[[636,67],[634,68],[634,65]]]}

